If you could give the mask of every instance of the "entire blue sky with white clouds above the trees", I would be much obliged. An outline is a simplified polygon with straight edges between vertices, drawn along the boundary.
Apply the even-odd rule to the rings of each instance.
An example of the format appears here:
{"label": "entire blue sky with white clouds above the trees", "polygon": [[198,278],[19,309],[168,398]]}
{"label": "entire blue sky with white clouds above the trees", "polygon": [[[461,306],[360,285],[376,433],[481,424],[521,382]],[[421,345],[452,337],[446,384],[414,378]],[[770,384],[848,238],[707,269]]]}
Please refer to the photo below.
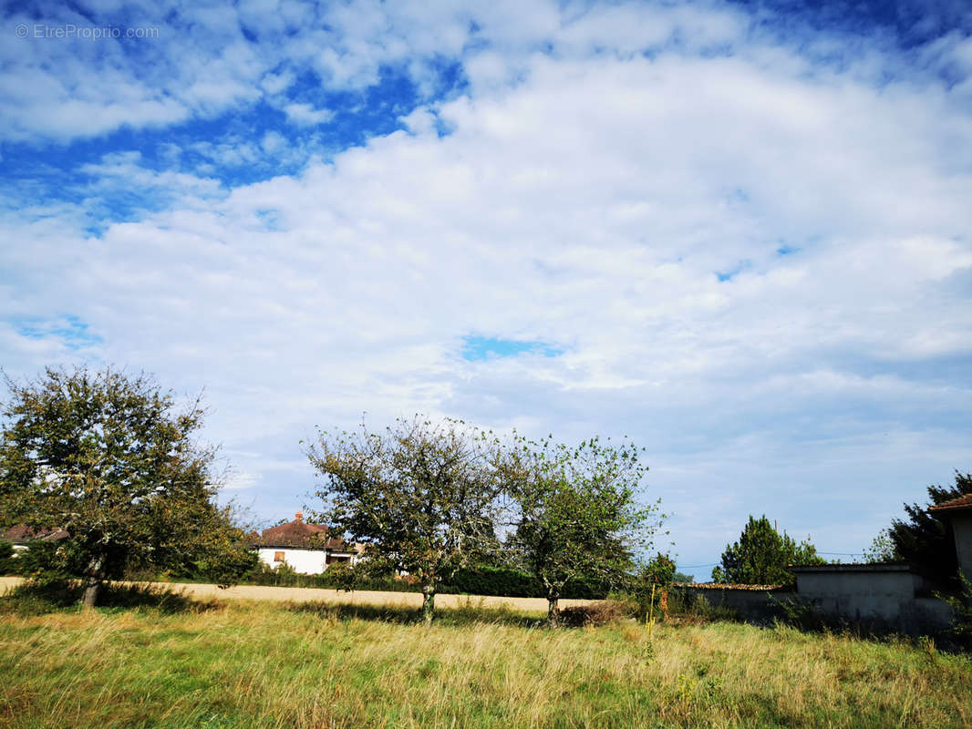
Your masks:
{"label": "entire blue sky with white clouds above the trees", "polygon": [[[455,417],[644,447],[679,568],[972,469],[972,6],[5,4],[0,364],[204,392],[224,498]],[[674,545],[671,543],[674,541]]]}

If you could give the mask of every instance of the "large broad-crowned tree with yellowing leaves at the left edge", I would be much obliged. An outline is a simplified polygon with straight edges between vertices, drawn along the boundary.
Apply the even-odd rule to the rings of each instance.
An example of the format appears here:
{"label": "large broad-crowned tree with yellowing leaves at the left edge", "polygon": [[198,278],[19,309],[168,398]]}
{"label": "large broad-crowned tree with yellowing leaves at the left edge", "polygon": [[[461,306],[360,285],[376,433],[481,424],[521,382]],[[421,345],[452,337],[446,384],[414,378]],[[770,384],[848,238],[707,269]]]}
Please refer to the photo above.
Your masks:
{"label": "large broad-crowned tree with yellowing leaves at the left edge", "polygon": [[68,533],[37,555],[39,570],[80,573],[93,605],[104,580],[128,571],[171,568],[228,583],[248,564],[243,535],[215,503],[215,451],[193,439],[198,399],[176,412],[150,377],[110,368],[48,368],[7,386],[0,526]]}

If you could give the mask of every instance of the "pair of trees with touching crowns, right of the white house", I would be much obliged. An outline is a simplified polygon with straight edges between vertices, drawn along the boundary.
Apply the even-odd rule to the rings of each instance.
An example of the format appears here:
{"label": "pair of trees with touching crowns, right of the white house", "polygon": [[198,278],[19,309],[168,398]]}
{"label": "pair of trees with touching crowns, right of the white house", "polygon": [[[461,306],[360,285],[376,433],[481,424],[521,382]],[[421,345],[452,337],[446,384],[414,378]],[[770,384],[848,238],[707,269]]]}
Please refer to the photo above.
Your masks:
{"label": "pair of trees with touching crowns, right of the white house", "polygon": [[643,449],[627,439],[572,446],[415,416],[319,432],[306,452],[321,483],[313,517],[364,544],[361,570],[421,585],[427,622],[449,589],[539,594],[555,624],[561,598],[603,597],[636,573],[664,516],[641,502]]}

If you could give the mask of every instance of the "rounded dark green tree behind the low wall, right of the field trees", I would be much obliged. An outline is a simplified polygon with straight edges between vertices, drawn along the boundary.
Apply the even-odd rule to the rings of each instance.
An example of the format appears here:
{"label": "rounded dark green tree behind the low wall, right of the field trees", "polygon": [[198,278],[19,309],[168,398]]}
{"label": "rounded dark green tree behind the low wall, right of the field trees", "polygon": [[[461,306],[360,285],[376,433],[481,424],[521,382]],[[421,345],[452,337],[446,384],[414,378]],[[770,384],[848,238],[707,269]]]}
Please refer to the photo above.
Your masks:
{"label": "rounded dark green tree behind the low wall, right of the field trees", "polygon": [[727,544],[722,564],[712,570],[712,581],[729,584],[791,585],[790,565],[822,565],[809,540],[799,544],[779,534],[766,516],[749,516],[739,541]]}

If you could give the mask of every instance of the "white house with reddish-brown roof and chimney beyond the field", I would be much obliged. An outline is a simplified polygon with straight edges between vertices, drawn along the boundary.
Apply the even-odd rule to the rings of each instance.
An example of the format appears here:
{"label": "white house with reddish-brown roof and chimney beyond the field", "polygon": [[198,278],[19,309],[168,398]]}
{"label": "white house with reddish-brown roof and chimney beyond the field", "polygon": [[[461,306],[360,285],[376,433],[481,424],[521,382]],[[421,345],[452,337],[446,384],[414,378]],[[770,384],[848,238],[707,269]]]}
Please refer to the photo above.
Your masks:
{"label": "white house with reddish-brown roof and chimney beyond the field", "polygon": [[341,538],[328,537],[322,524],[308,524],[299,511],[287,524],[264,529],[254,547],[260,562],[276,570],[288,565],[296,573],[320,574],[337,562],[356,564],[364,551],[360,544],[349,544]]}

